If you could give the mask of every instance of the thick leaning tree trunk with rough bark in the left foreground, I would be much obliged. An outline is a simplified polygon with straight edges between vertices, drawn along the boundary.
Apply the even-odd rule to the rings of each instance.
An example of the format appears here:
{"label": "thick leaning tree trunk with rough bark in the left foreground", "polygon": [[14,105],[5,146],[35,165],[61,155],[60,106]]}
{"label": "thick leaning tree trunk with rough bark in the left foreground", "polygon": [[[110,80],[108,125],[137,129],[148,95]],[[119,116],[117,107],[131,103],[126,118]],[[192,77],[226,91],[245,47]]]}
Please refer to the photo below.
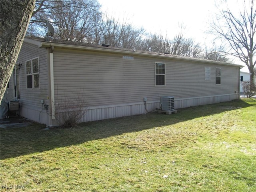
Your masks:
{"label": "thick leaning tree trunk with rough bark in the left foreground", "polygon": [[0,102],[12,75],[28,24],[34,10],[35,0],[1,0],[1,90]]}

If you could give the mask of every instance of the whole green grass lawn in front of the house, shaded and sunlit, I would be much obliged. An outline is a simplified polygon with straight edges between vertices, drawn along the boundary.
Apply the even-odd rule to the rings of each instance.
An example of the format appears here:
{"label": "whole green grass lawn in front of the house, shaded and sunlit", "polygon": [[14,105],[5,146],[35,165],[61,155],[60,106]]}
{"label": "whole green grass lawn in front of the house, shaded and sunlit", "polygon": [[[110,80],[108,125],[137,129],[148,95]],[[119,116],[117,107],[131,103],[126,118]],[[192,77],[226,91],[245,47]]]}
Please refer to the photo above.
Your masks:
{"label": "whole green grass lawn in front of the house, shaded and sunlit", "polygon": [[44,128],[1,128],[1,191],[256,191],[256,99]]}

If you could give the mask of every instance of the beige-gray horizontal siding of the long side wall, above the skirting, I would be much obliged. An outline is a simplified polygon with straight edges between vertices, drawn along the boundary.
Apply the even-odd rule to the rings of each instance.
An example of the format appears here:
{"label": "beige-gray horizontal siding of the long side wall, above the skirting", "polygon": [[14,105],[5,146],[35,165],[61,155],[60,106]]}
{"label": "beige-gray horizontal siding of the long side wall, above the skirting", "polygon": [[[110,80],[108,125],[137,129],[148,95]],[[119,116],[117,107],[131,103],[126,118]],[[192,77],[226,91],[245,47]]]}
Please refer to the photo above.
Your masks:
{"label": "beige-gray horizontal siding of the long side wall, above the skirting", "polygon": [[[87,107],[157,102],[160,96],[179,98],[234,94],[238,92],[238,67],[174,59],[123,54],[54,50],[54,87],[56,104],[86,98]],[[155,62],[165,63],[166,85],[155,86]],[[205,80],[205,67],[211,68]],[[215,68],[221,68],[221,84],[216,85]]]}

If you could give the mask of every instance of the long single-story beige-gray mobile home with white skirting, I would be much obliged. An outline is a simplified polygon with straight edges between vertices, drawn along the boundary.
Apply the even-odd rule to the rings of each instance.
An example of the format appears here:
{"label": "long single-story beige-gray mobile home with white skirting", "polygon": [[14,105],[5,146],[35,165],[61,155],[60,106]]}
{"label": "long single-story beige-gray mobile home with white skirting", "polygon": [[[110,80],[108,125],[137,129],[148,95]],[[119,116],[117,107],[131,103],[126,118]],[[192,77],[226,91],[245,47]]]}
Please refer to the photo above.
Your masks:
{"label": "long single-story beige-gray mobile home with white skirting", "polygon": [[35,37],[24,39],[18,64],[6,100],[18,98],[21,116],[46,125],[84,100],[80,122],[144,114],[160,108],[161,96],[174,96],[176,109],[239,99],[242,67]]}

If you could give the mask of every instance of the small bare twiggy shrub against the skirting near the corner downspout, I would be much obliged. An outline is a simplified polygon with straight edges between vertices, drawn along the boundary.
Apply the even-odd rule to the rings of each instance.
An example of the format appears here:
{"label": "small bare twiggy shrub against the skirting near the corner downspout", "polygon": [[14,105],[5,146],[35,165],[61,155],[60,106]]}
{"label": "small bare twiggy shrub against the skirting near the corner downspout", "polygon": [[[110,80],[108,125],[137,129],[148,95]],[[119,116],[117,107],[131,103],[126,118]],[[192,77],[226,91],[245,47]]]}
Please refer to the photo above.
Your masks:
{"label": "small bare twiggy shrub against the skirting near the corner downspout", "polygon": [[87,108],[84,94],[65,96],[64,99],[58,100],[57,107],[56,120],[62,128],[76,127],[79,120],[86,114]]}

